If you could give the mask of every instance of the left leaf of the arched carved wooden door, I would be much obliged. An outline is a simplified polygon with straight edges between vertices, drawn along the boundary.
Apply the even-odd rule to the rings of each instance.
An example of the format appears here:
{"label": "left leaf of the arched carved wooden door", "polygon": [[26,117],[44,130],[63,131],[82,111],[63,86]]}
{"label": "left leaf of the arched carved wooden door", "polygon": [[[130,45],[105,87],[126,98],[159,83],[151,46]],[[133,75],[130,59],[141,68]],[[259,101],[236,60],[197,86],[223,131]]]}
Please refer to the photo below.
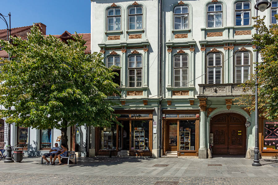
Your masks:
{"label": "left leaf of the arched carved wooden door", "polygon": [[228,116],[220,114],[212,118],[210,132],[213,133],[213,154],[228,155]]}

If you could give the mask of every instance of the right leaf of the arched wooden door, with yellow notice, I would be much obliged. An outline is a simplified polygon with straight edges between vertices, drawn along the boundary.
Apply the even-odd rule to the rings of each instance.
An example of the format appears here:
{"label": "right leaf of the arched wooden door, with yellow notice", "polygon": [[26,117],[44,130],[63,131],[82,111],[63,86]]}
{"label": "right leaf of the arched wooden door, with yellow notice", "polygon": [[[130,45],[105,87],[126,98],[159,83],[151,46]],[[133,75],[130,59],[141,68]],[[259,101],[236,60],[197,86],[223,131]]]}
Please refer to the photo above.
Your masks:
{"label": "right leaf of the arched wooden door, with yellow notice", "polygon": [[229,115],[229,154],[244,155],[246,150],[245,118],[239,114]]}

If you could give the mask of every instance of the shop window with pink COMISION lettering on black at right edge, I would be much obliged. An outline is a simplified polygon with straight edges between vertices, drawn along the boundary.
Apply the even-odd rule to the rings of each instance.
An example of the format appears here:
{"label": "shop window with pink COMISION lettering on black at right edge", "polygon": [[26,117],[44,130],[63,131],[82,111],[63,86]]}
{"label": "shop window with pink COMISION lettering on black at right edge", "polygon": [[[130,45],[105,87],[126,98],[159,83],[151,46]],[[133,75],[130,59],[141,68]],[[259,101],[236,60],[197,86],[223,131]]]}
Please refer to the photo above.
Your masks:
{"label": "shop window with pink COMISION lettering on black at right edge", "polygon": [[263,150],[278,150],[278,120],[264,120],[263,126]]}

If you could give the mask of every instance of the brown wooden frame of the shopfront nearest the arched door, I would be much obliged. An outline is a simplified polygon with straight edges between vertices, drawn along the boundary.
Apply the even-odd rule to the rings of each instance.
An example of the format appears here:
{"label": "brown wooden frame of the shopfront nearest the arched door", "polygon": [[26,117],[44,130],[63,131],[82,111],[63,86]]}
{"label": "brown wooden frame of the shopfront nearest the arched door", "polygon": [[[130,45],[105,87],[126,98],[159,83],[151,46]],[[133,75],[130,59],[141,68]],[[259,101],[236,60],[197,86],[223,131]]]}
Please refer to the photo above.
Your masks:
{"label": "brown wooden frame of the shopfront nearest the arched door", "polygon": [[[178,140],[177,140],[177,153],[178,156],[199,156],[199,130],[200,130],[200,119],[199,119],[199,109],[196,110],[162,110],[162,114],[177,114],[177,117],[162,118],[162,153],[166,155],[168,149],[169,137],[167,130],[168,121],[177,121],[178,123]],[[180,114],[196,114],[196,117],[179,117]],[[180,120],[195,120],[195,150],[179,150],[179,121]]]}

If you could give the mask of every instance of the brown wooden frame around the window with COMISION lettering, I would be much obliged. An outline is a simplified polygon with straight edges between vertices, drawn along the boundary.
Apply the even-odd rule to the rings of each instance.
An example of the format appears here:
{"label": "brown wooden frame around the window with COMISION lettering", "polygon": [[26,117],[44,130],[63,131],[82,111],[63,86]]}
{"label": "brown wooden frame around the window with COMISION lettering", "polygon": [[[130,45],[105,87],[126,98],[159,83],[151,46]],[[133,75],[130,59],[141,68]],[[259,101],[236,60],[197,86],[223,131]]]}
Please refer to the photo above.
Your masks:
{"label": "brown wooden frame around the window with COMISION lettering", "polygon": [[263,121],[266,120],[265,117],[259,117],[259,150],[261,156],[271,156],[278,157],[278,150],[263,150]]}

